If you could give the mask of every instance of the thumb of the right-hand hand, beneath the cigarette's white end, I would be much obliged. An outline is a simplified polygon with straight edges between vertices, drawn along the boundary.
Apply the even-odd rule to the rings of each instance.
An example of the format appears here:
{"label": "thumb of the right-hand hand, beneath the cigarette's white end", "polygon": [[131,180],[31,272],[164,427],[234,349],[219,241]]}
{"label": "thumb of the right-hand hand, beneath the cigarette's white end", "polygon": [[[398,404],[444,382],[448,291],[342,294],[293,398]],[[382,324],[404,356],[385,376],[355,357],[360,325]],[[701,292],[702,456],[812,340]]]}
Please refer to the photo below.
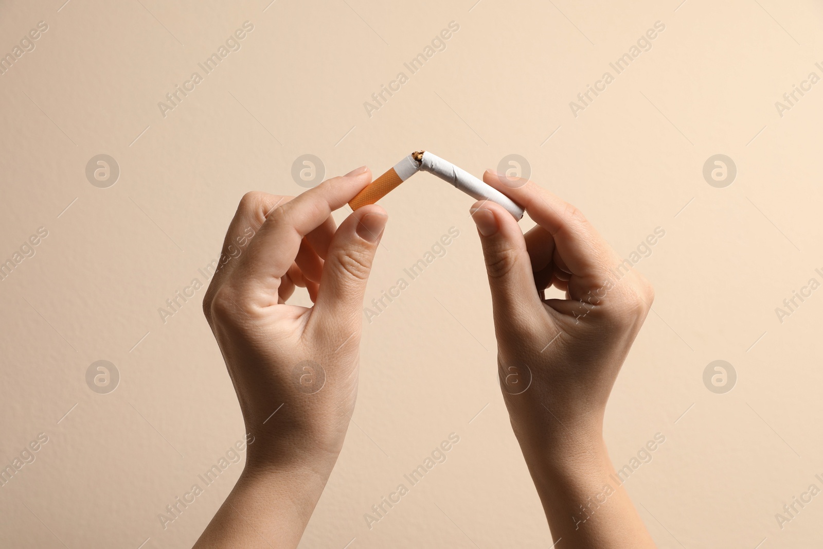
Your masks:
{"label": "thumb of the right-hand hand, beneath the cigarette's white end", "polygon": [[520,226],[503,207],[488,200],[476,202],[470,212],[486,258],[495,320],[505,319],[500,325],[508,325],[525,317],[528,322],[543,307]]}

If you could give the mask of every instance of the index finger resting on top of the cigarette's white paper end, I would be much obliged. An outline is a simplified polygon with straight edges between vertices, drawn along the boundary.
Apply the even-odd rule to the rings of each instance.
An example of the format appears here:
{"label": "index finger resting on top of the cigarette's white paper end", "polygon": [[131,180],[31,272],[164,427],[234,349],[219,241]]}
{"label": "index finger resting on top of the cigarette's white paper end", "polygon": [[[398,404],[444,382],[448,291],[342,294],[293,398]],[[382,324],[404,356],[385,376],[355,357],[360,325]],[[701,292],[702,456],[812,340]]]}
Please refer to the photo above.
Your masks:
{"label": "index finger resting on top of the cigarette's white paper end", "polygon": [[528,179],[486,170],[483,181],[526,209],[555,241],[557,253],[579,277],[608,270],[614,252],[576,207]]}

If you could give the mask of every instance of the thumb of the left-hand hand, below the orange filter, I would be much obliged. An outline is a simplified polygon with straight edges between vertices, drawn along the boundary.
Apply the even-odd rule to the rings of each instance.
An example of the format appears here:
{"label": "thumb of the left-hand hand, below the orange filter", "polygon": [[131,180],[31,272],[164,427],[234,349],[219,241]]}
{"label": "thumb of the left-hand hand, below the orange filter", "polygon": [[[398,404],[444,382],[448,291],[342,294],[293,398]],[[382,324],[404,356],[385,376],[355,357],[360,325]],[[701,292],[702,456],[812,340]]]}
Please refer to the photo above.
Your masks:
{"label": "thumb of the left-hand hand, below the orange filter", "polygon": [[360,328],[365,286],[386,221],[385,210],[370,204],[346,217],[334,233],[314,302],[327,327],[349,333]]}

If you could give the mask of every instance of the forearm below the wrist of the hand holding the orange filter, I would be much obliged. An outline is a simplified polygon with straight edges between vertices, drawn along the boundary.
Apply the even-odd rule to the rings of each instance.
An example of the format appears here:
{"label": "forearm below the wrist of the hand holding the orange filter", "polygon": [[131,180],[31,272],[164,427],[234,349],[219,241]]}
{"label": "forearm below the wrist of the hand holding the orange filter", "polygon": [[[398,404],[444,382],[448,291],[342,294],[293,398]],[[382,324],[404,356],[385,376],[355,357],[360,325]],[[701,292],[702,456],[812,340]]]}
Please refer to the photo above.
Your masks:
{"label": "forearm below the wrist of the hand holding the orange filter", "polygon": [[194,549],[297,547],[331,470],[247,466]]}

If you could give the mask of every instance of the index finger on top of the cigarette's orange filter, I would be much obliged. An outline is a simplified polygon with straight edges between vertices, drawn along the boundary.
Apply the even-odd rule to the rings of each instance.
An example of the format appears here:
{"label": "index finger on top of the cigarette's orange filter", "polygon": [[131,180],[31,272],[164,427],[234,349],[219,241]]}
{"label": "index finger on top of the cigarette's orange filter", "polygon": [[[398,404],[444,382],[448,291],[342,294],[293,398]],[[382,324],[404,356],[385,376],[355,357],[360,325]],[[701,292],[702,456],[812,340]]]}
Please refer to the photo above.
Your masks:
{"label": "index finger on top of the cigarette's orange filter", "polygon": [[243,281],[262,284],[267,305],[277,304],[280,278],[294,262],[300,241],[321,226],[371,181],[363,166],[342,177],[323,181],[271,213],[249,243],[236,269]]}

